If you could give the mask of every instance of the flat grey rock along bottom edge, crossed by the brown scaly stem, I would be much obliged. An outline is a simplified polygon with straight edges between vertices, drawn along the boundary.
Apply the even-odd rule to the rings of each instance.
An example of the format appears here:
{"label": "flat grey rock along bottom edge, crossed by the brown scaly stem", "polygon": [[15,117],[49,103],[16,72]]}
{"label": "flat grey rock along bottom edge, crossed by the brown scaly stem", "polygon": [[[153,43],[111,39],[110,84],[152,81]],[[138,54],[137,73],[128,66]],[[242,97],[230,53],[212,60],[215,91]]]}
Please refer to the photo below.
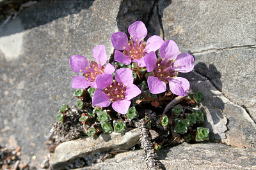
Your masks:
{"label": "flat grey rock along bottom edge, crossed by the brown scaly stem", "polygon": [[[256,169],[256,150],[199,143],[164,148],[158,152],[166,169]],[[83,169],[145,169],[143,150],[118,153],[113,159]]]}

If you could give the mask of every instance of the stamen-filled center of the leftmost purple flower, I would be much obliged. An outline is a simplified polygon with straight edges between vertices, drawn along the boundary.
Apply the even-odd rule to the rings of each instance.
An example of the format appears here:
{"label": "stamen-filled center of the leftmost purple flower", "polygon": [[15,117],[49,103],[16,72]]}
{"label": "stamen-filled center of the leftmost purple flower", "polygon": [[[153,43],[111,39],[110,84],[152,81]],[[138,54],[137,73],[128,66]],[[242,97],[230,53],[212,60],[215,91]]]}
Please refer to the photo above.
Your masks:
{"label": "stamen-filled center of the leftmost purple flower", "polygon": [[[88,60],[90,62],[90,60]],[[86,67],[86,72],[83,74],[88,81],[95,81],[97,75],[102,74],[104,72],[104,66],[101,66],[100,63],[92,61],[90,62],[90,68]]]}

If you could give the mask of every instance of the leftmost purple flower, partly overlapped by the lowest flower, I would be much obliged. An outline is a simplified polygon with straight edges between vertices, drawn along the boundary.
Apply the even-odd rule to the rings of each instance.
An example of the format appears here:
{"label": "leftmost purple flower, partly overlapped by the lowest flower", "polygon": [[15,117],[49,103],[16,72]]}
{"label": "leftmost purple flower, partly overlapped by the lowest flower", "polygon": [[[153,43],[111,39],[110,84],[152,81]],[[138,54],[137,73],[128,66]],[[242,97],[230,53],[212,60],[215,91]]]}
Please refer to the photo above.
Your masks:
{"label": "leftmost purple flower, partly overlapped by the lowest flower", "polygon": [[83,76],[74,76],[71,82],[72,88],[86,89],[91,86],[94,89],[97,88],[95,79],[99,74],[109,73],[112,74],[115,71],[115,67],[111,64],[104,64],[108,60],[106,48],[104,45],[95,46],[92,50],[93,58],[96,60],[90,62],[83,55],[72,55],[69,59],[70,67],[76,73],[84,73]]}

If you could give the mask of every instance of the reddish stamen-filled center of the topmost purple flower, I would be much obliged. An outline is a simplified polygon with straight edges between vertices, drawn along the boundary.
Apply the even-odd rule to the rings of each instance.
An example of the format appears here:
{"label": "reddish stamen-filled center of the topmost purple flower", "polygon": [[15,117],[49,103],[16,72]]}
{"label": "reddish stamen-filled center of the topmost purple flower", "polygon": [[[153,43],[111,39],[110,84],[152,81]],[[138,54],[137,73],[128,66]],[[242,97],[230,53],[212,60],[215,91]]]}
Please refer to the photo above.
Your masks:
{"label": "reddish stamen-filled center of the topmost purple flower", "polygon": [[138,39],[136,39],[136,41],[133,41],[130,37],[128,47],[127,48],[124,47],[123,53],[124,55],[131,56],[131,60],[140,59],[147,54],[144,50],[145,46],[146,46],[146,42],[143,41],[143,39],[139,43]]}

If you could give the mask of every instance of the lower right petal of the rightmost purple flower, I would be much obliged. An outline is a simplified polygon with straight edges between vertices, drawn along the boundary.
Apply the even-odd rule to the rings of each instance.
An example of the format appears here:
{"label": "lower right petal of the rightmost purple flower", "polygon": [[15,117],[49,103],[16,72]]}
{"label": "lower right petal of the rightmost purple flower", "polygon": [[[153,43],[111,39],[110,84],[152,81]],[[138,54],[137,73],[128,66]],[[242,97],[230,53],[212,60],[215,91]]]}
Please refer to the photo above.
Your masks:
{"label": "lower right petal of the rightmost purple flower", "polygon": [[169,81],[169,87],[173,94],[178,96],[186,96],[189,89],[189,81],[186,78],[177,77]]}

